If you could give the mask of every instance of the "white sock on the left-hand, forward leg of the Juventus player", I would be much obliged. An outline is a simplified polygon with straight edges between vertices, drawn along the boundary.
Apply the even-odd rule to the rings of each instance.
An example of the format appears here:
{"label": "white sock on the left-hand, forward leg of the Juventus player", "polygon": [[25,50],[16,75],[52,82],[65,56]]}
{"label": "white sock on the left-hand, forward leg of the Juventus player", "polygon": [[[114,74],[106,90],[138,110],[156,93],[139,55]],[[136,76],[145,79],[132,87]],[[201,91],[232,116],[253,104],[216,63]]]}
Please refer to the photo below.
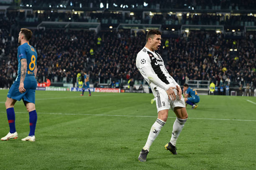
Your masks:
{"label": "white sock on the left-hand, forward leg of the Juventus player", "polygon": [[156,139],[156,137],[159,135],[160,130],[162,128],[162,126],[165,125],[165,121],[162,121],[160,119],[157,119],[156,122],[152,125],[148,138],[147,138],[147,142],[145,144],[145,146],[143,147],[144,150],[149,151],[150,146],[152,145],[153,141]]}

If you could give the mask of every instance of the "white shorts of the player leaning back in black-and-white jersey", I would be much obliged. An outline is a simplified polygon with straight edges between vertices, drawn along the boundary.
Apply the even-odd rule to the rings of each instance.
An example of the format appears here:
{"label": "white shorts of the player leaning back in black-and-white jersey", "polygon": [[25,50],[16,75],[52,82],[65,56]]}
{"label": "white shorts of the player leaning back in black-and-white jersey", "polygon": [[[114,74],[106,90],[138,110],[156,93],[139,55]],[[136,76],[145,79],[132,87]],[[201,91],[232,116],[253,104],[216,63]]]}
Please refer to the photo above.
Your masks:
{"label": "white shorts of the player leaning back in black-and-white jersey", "polygon": [[173,90],[174,90],[174,93],[176,94],[176,100],[169,100],[166,91],[160,87],[156,87],[152,91],[156,99],[157,113],[161,110],[166,110],[166,109],[169,110],[170,108],[173,111],[174,108],[176,107],[182,107],[182,108],[186,107],[183,96],[179,100],[177,96],[177,90],[176,89],[173,89]]}

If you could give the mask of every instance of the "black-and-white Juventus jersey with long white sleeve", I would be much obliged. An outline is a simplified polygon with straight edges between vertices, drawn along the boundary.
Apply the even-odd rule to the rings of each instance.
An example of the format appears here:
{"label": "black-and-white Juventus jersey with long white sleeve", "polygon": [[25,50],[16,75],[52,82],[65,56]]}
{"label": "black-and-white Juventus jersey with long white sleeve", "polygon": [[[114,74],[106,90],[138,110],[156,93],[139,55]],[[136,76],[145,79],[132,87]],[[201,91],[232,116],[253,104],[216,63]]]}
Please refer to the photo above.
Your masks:
{"label": "black-and-white Juventus jersey with long white sleeve", "polygon": [[178,85],[166,70],[161,56],[146,47],[137,54],[136,67],[152,89],[161,87],[167,90]]}

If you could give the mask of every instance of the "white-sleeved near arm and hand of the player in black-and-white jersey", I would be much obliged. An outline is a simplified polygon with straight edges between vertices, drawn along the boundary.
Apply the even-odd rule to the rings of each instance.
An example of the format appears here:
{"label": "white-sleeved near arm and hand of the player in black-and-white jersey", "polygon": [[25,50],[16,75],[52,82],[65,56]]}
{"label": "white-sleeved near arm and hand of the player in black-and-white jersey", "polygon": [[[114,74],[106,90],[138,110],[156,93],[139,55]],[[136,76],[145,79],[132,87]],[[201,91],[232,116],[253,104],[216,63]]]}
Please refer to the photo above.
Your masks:
{"label": "white-sleeved near arm and hand of the player in black-and-white jersey", "polygon": [[157,86],[163,88],[166,90],[166,93],[169,96],[169,99],[171,98],[172,100],[176,99],[176,95],[173,91],[174,88],[176,87],[171,87],[169,84],[166,84],[162,82],[159,77],[155,74],[153,68],[151,66],[145,66],[142,68],[142,71],[146,74],[148,80],[156,84]]}

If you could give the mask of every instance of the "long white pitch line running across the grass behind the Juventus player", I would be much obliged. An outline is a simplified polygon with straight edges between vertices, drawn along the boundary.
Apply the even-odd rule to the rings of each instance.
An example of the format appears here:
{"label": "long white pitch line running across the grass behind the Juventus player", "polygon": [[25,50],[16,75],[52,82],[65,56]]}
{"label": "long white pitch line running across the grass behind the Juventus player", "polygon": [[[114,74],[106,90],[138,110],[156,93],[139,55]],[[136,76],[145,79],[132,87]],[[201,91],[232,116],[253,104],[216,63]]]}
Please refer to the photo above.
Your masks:
{"label": "long white pitch line running across the grass behind the Juventus player", "polygon": [[[4,111],[0,111],[5,113]],[[28,112],[15,112],[15,113],[28,113]],[[83,114],[83,113],[43,113],[38,114],[59,114],[59,115],[85,115],[85,116],[115,116],[115,117],[157,117],[157,116],[143,116],[143,115],[118,115],[118,114]],[[176,117],[168,117],[170,119],[176,119]],[[197,120],[217,120],[217,121],[245,121],[245,122],[256,122],[256,120],[241,120],[241,119],[217,119],[217,118],[203,118],[203,117],[189,117],[189,119]]]}

